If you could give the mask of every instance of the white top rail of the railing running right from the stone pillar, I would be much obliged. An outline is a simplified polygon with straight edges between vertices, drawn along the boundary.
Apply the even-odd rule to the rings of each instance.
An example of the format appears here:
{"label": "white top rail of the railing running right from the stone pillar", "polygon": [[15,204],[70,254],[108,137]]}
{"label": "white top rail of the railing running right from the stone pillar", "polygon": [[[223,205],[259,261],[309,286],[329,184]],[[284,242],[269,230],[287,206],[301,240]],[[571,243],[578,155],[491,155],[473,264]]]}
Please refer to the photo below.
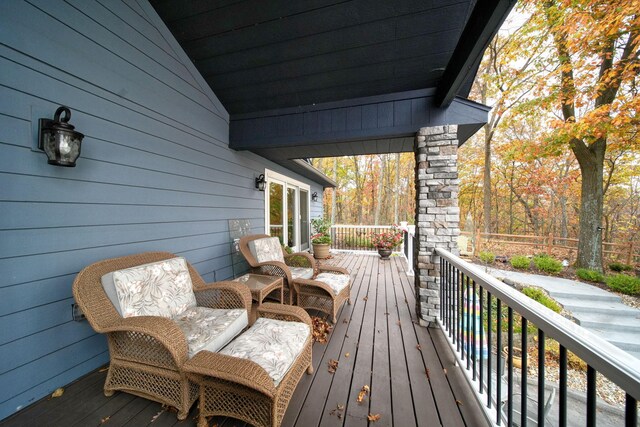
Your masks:
{"label": "white top rail of the railing running right from the stone pillar", "polygon": [[605,375],[635,399],[640,399],[640,362],[594,333],[536,303],[526,295],[505,285],[488,273],[452,253],[437,248],[436,253],[473,279],[476,283],[506,302],[528,321],[542,329],[567,350],[575,353],[589,366]]}

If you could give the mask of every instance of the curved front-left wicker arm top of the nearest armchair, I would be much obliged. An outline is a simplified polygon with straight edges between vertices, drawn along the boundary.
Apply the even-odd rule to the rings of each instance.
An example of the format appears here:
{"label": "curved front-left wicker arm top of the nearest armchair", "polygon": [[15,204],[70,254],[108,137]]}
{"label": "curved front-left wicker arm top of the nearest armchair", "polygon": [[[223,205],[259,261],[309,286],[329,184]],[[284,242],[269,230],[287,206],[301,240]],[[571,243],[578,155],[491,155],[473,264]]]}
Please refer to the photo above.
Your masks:
{"label": "curved front-left wicker arm top of the nearest armchair", "polygon": [[135,332],[137,334],[148,335],[167,350],[178,367],[182,366],[189,359],[187,339],[184,336],[184,332],[182,332],[175,322],[166,317],[126,317],[104,328],[102,332]]}

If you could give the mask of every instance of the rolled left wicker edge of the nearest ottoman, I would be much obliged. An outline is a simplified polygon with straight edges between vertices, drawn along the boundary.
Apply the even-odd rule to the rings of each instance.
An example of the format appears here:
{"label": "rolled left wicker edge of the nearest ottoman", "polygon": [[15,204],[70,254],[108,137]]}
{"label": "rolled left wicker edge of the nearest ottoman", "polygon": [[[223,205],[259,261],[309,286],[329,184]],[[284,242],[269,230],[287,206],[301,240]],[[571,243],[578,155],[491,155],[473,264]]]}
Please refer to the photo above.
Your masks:
{"label": "rolled left wicker edge of the nearest ottoman", "polygon": [[276,393],[273,379],[262,366],[239,357],[203,350],[193,356],[183,366],[183,370],[189,374],[241,384],[257,390],[269,398],[273,398]]}

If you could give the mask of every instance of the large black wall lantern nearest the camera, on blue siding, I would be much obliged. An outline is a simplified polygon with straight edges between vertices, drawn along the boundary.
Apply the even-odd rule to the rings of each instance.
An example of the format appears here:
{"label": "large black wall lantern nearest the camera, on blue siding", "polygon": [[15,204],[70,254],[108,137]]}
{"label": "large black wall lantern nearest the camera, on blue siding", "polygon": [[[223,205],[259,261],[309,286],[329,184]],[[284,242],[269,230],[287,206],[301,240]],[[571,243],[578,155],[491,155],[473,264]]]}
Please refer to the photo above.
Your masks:
{"label": "large black wall lantern nearest the camera, on blue siding", "polygon": [[70,118],[69,107],[60,106],[53,120],[38,120],[38,148],[45,152],[50,165],[72,168],[80,156],[84,135],[69,124]]}

